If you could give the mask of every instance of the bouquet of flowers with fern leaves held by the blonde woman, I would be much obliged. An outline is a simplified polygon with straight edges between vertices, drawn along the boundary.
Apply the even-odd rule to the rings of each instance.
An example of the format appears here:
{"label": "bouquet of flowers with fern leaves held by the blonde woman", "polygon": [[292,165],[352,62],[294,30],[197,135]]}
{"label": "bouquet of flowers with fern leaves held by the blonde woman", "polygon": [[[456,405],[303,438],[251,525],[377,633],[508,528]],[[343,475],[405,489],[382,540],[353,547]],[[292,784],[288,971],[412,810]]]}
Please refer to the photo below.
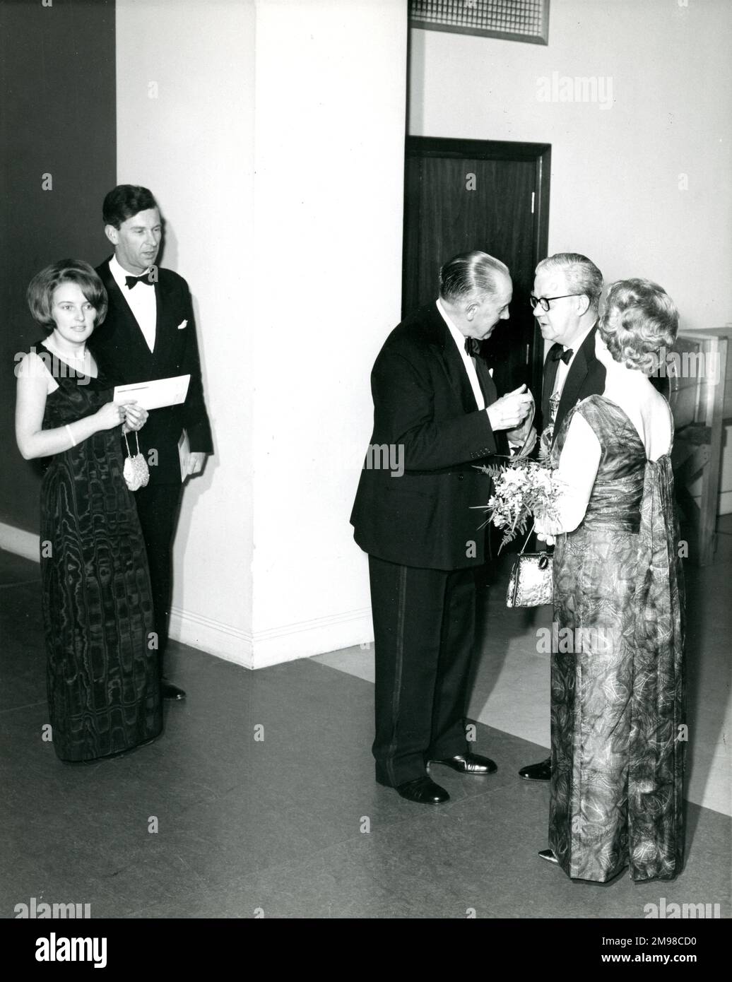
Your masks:
{"label": "bouquet of flowers with fern leaves held by the blonde woman", "polygon": [[[503,466],[488,464],[480,470],[493,478],[493,494],[484,512],[496,528],[504,529],[500,550],[526,531],[529,518],[557,521],[560,480],[556,470],[526,457],[509,460]],[[531,533],[530,533],[531,534]]]}

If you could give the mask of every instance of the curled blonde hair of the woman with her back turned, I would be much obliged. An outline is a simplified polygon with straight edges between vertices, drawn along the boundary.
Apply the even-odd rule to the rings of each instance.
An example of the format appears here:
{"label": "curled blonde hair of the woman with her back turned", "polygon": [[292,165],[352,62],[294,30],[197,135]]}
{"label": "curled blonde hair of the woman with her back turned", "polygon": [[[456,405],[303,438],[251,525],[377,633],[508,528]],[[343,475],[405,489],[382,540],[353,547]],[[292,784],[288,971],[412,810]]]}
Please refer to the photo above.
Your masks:
{"label": "curled blonde hair of the woman with her back turned", "polygon": [[650,373],[657,367],[658,352],[676,340],[679,311],[657,283],[618,280],[607,293],[597,329],[616,361]]}

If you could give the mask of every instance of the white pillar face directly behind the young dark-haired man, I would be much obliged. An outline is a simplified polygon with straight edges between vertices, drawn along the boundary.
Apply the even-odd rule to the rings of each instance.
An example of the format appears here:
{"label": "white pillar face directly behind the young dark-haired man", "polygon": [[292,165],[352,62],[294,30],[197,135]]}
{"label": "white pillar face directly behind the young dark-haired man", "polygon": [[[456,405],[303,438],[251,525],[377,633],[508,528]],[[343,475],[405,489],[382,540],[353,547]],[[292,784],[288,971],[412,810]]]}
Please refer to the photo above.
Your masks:
{"label": "white pillar face directly behind the young dark-haired man", "polygon": [[[254,4],[117,0],[120,184],[167,221],[189,281],[215,455],[190,480],[171,634],[245,664],[252,648]],[[157,97],[150,83],[157,83]]]}

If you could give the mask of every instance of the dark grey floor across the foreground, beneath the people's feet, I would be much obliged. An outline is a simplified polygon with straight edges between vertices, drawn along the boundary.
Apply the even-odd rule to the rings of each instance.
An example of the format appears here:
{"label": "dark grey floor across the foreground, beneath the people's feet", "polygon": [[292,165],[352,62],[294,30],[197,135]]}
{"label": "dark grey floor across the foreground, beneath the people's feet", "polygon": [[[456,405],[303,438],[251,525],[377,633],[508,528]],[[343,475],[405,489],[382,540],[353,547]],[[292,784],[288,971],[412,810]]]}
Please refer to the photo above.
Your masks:
{"label": "dark grey floor across the foreground, beneath the people's feet", "polygon": [[310,659],[248,672],[176,645],[189,698],[163,736],[63,764],[42,739],[37,576],[0,552],[2,917],[31,898],[92,917],[644,918],[661,898],[730,915],[726,815],[688,804],[673,883],[573,883],[536,856],[546,786],[516,775],[539,743],[479,724],[498,773],[435,767],[452,801],[410,804],[373,782],[372,684]]}

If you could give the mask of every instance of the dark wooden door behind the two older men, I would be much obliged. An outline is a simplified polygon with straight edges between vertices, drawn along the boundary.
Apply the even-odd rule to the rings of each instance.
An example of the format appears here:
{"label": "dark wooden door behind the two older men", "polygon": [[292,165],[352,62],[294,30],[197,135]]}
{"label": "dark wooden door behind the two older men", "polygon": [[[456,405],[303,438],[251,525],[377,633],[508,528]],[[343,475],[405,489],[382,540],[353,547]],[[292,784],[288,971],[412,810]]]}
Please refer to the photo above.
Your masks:
{"label": "dark wooden door behind the two older men", "polygon": [[550,146],[407,138],[403,315],[434,300],[443,262],[481,249],[509,267],[510,319],[485,343],[499,392],[522,382],[538,401],[543,342],[529,296],[546,255]]}

